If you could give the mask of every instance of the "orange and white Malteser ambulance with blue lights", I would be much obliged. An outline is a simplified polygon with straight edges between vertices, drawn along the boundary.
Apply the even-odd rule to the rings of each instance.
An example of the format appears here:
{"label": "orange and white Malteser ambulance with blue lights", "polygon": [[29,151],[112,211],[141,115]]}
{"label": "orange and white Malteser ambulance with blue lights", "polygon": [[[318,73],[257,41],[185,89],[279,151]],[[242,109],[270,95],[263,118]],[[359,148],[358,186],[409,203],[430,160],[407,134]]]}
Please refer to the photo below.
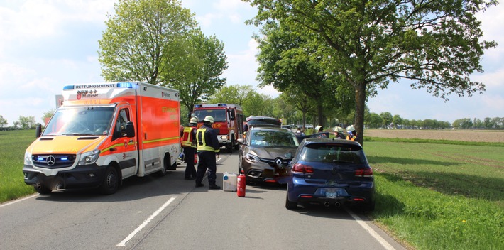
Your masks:
{"label": "orange and white Malteser ambulance with blue lights", "polygon": [[67,85],[62,106],[26,149],[24,181],[40,194],[94,188],[177,168],[180,96],[145,82]]}

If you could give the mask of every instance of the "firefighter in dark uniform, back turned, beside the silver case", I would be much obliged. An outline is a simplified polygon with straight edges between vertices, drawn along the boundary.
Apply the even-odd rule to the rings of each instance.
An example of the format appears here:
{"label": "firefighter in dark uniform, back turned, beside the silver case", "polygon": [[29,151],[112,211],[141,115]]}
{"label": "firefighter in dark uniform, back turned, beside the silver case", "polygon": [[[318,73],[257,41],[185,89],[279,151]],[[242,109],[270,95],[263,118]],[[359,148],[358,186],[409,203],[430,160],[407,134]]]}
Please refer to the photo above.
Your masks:
{"label": "firefighter in dark uniform, back turned, beside the silver case", "polygon": [[215,180],[217,180],[217,158],[219,157],[219,139],[217,133],[212,129],[214,118],[206,116],[203,120],[203,126],[196,131],[196,143],[198,152],[198,171],[196,175],[196,187],[203,187],[204,172],[208,169],[209,189],[220,189]]}

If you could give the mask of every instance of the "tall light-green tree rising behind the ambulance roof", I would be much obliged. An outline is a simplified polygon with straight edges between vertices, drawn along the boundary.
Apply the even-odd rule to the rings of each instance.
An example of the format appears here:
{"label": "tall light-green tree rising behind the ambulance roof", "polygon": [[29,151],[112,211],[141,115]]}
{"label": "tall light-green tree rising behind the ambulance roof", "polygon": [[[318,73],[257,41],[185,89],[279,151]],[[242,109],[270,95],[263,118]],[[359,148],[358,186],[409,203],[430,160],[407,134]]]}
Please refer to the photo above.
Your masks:
{"label": "tall light-green tree rising behind the ambulance roof", "polygon": [[107,81],[140,80],[166,85],[183,75],[187,33],[196,26],[178,0],[121,0],[108,15],[99,40],[99,62]]}

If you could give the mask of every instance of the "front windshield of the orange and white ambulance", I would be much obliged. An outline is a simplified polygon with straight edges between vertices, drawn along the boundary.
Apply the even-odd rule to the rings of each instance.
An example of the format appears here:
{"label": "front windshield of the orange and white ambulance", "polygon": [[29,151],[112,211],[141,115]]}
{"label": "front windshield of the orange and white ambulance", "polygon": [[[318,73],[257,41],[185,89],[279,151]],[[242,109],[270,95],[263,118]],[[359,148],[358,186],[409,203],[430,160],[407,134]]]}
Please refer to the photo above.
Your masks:
{"label": "front windshield of the orange and white ambulance", "polygon": [[102,136],[109,134],[114,107],[57,109],[42,136]]}

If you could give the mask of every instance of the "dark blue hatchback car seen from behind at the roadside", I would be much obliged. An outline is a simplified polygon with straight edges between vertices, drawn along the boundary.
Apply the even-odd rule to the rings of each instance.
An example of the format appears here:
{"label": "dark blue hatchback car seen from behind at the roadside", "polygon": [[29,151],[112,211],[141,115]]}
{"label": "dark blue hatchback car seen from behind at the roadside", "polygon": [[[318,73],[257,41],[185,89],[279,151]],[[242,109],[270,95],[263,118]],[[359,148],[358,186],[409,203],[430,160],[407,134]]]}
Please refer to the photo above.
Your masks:
{"label": "dark blue hatchback car seen from behind at the roadside", "polygon": [[289,168],[287,209],[310,204],[375,208],[373,170],[356,141],[306,138]]}

